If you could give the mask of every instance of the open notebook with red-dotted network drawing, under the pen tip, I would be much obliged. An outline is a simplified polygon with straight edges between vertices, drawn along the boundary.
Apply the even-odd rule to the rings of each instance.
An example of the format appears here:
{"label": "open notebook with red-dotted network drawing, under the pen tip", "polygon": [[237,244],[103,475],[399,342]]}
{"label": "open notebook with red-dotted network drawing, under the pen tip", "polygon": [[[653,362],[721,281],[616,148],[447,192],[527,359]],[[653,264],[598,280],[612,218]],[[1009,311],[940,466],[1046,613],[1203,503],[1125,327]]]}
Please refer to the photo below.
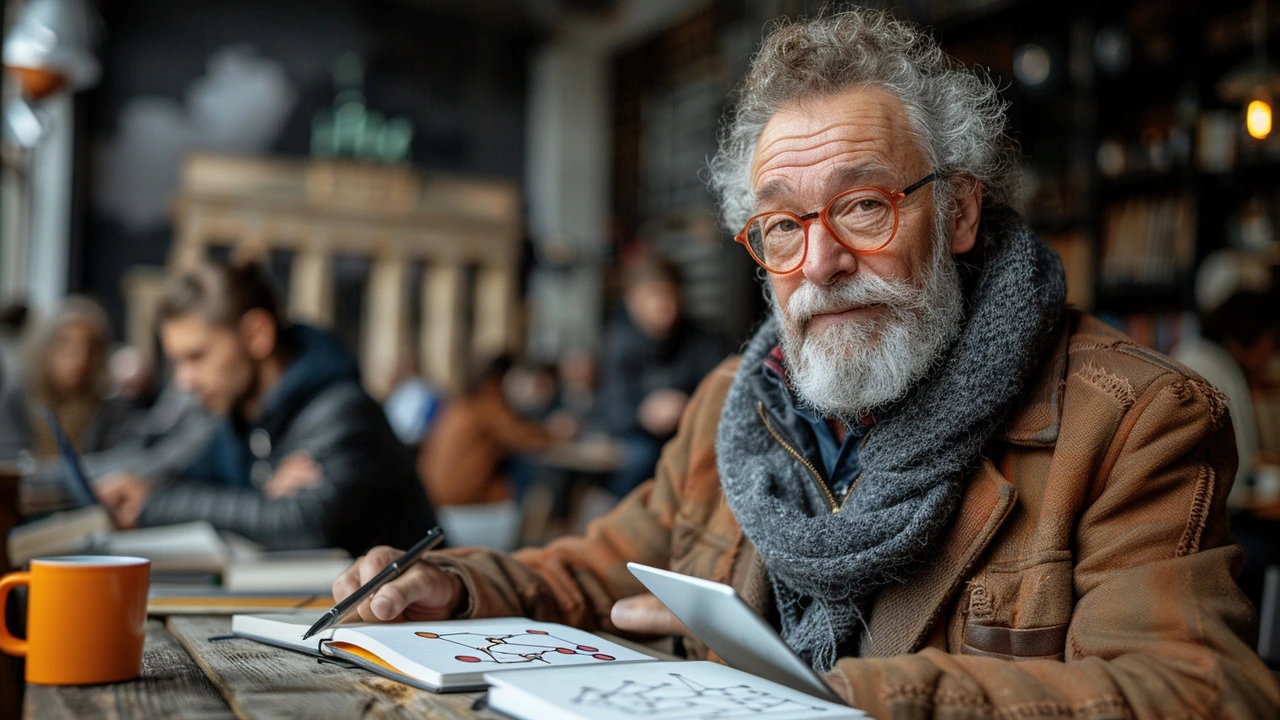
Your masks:
{"label": "open notebook with red-dotted network drawing, under the pen tip", "polygon": [[654,660],[586,630],[526,618],[343,624],[303,641],[302,633],[319,618],[319,612],[236,615],[232,634],[339,657],[433,692],[484,689],[484,674],[492,670]]}

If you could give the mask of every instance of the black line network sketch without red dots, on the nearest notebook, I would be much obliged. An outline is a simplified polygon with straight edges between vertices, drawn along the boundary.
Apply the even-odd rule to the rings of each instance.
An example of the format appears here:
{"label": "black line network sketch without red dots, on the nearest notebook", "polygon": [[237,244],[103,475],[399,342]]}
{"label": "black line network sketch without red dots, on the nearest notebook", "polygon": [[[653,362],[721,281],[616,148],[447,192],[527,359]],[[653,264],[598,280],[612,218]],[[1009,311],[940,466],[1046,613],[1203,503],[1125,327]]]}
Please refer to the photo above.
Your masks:
{"label": "black line network sketch without red dots, on the nearest notebook", "polygon": [[622,680],[611,689],[584,687],[573,698],[575,705],[609,710],[635,717],[689,717],[724,720],[728,717],[769,717],[800,711],[827,712],[826,707],[809,705],[736,684],[710,687],[680,673],[663,683]]}

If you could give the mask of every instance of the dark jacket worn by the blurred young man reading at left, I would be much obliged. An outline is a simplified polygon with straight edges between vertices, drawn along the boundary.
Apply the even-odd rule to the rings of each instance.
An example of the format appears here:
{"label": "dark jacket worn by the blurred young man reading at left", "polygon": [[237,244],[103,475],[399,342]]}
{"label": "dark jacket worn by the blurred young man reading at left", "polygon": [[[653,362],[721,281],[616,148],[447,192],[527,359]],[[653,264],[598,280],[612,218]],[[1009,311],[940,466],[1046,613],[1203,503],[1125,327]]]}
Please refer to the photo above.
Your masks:
{"label": "dark jacket worn by the blurred young man reading at left", "polygon": [[[435,515],[412,455],[361,388],[355,360],[314,328],[294,325],[287,337],[294,359],[259,419],[224,419],[192,468],[152,492],[141,524],[209,520],[270,550],[352,555],[421,539]],[[320,484],[266,498],[260,488],[296,451],[320,465]]]}

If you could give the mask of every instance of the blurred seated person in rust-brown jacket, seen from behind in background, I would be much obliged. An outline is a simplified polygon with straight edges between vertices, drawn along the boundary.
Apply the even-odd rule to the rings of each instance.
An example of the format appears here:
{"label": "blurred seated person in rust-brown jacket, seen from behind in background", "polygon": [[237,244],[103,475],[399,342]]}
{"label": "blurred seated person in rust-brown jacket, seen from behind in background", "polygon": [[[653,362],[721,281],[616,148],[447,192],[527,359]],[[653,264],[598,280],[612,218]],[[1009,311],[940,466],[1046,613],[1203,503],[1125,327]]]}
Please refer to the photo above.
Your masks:
{"label": "blurred seated person in rust-brown jacket, seen from behind in background", "polygon": [[466,392],[449,400],[428,434],[419,468],[439,507],[500,502],[512,497],[507,465],[516,454],[545,450],[576,432],[557,418],[525,420],[507,401],[503,378],[511,357],[499,355],[472,375]]}

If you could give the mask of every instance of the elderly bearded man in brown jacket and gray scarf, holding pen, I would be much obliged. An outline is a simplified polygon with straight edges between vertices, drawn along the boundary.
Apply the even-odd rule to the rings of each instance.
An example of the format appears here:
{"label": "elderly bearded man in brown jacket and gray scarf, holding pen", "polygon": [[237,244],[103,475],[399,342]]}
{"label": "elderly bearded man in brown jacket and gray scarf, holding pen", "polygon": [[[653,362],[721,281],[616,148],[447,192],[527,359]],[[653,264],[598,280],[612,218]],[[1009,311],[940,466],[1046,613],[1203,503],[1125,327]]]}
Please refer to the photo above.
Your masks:
{"label": "elderly bearded man in brown jacket and gray scarf, holding pen", "polygon": [[634,560],[733,585],[879,717],[1274,716],[1222,396],[1065,309],[1004,131],[908,24],[773,31],[712,164],[772,318],[585,538],[431,555],[362,616],[662,629]]}

